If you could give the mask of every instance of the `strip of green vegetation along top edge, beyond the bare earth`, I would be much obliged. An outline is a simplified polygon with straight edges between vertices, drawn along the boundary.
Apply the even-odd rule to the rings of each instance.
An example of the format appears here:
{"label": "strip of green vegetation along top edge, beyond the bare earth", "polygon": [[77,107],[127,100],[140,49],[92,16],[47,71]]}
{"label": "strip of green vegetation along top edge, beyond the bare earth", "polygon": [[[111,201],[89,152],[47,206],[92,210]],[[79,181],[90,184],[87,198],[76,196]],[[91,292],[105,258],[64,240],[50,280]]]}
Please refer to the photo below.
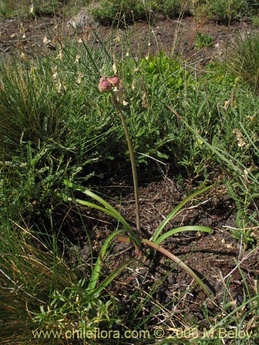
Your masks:
{"label": "strip of green vegetation along top edge, beyond the bare earth", "polygon": [[184,12],[186,15],[206,17],[216,21],[229,22],[244,17],[253,17],[258,14],[258,1],[256,0],[1,0],[0,13],[6,16],[33,14],[57,14],[58,12],[77,12],[82,6],[97,21],[111,24],[114,21],[126,21],[151,19],[158,14],[169,18],[178,17]]}

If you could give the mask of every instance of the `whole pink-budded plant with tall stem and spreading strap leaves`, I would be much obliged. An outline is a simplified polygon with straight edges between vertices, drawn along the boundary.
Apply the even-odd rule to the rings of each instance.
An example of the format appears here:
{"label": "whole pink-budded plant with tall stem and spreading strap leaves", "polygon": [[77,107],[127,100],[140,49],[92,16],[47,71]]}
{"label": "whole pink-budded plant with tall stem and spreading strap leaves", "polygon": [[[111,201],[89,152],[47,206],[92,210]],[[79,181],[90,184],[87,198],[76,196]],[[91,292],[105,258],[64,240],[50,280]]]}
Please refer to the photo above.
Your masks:
{"label": "whole pink-budded plant with tall stem and spreading strap leaves", "polygon": [[[211,229],[206,226],[180,226],[179,228],[174,228],[172,230],[168,230],[166,233],[162,233],[164,228],[167,224],[169,224],[169,221],[175,217],[175,215],[179,212],[179,210],[187,204],[191,199],[197,197],[198,195],[204,193],[205,191],[209,190],[211,186],[207,186],[205,188],[202,188],[202,190],[198,190],[195,193],[189,195],[184,200],[176,206],[171,213],[162,221],[160,226],[155,230],[152,239],[144,239],[142,238],[141,233],[141,223],[140,223],[140,199],[139,199],[139,188],[138,188],[138,182],[137,182],[137,168],[135,163],[135,155],[133,150],[133,145],[131,142],[131,137],[128,132],[128,127],[126,125],[126,120],[124,118],[122,107],[120,106],[119,99],[117,98],[117,95],[119,93],[119,86],[120,86],[120,79],[117,77],[117,75],[113,77],[102,77],[99,80],[98,89],[100,92],[106,93],[110,95],[111,102],[115,106],[115,109],[117,110],[120,119],[122,120],[122,125],[124,128],[126,141],[128,144],[128,151],[131,159],[131,168],[132,168],[132,174],[133,174],[133,185],[134,185],[134,193],[135,193],[135,208],[136,208],[136,228],[137,232],[133,231],[131,226],[128,224],[128,221],[124,219],[124,217],[115,209],[111,204],[108,204],[102,197],[99,197],[99,195],[93,193],[88,188],[80,188],[78,186],[74,186],[70,181],[65,180],[64,184],[68,188],[73,188],[73,190],[79,191],[81,193],[84,193],[88,198],[97,201],[97,203],[93,201],[88,201],[84,199],[78,199],[75,197],[66,196],[67,201],[74,201],[78,204],[88,206],[90,208],[95,208],[97,210],[100,210],[107,215],[110,215],[114,219],[117,220],[118,224],[122,226],[122,228],[118,228],[115,230],[108,238],[106,239],[106,242],[104,242],[104,245],[102,246],[102,249],[100,250],[99,257],[97,258],[97,262],[95,263],[95,268],[93,269],[93,273],[90,277],[90,282],[88,285],[88,289],[92,295],[99,295],[99,293],[102,292],[108,284],[110,284],[115,277],[117,277],[120,273],[122,273],[122,270],[126,268],[126,266],[136,263],[143,263],[146,260],[146,257],[150,253],[150,248],[153,248],[154,250],[159,251],[169,259],[173,260],[176,264],[178,264],[181,268],[186,270],[186,272],[193,277],[193,279],[200,284],[200,286],[203,288],[205,293],[209,296],[209,290],[202,282],[202,279],[196,275],[193,270],[184,264],[182,260],[173,253],[169,252],[169,250],[166,250],[166,248],[163,248],[161,246],[161,242],[164,241],[166,238],[170,237],[171,235],[174,235],[175,233],[180,233],[184,231],[200,231],[205,233],[210,233]],[[130,243],[133,242],[135,244],[135,257],[128,259],[126,262],[121,264],[111,275],[106,277],[104,281],[99,283],[97,286],[97,282],[99,279],[99,274],[101,272],[101,266],[102,262],[104,262],[104,259],[106,257],[106,253],[108,250],[109,244],[113,241],[113,239],[117,239],[117,242],[124,242],[124,243]]]}

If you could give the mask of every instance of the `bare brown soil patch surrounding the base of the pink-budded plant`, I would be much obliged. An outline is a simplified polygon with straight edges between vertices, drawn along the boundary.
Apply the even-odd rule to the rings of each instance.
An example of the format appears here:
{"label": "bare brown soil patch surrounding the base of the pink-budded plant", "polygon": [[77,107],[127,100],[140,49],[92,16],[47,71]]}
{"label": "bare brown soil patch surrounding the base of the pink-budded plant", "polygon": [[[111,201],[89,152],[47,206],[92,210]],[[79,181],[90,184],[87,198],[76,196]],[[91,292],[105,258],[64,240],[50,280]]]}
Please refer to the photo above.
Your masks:
{"label": "bare brown soil patch surrounding the base of the pink-budded plant", "polygon": [[[158,175],[157,173],[157,177]],[[113,198],[117,197],[117,201],[112,201],[115,208],[118,208],[119,198],[123,195],[121,206],[118,209],[135,229],[133,187],[128,184],[111,184],[109,188],[105,186],[100,187],[99,190],[104,191],[106,195],[112,195]],[[110,190],[110,194],[108,190]],[[146,181],[140,187],[142,236],[151,239],[155,229],[166,215],[169,215],[171,210],[188,194],[188,191],[184,188],[180,190],[173,179],[167,176],[160,176],[157,181]],[[157,290],[153,292],[148,304],[145,304],[140,310],[138,318],[134,318],[135,323],[140,322],[144,316],[151,315],[155,308],[161,308],[160,313],[149,322],[150,328],[148,329],[150,330],[157,324],[166,325],[168,328],[184,328],[184,326],[195,324],[199,325],[201,329],[209,329],[210,324],[204,318],[204,302],[207,303],[207,309],[211,313],[211,320],[216,320],[215,315],[220,317],[224,314],[223,302],[224,304],[233,302],[229,311],[242,304],[244,296],[248,294],[244,280],[249,286],[249,293],[253,295],[255,275],[259,272],[258,248],[253,250],[244,248],[237,239],[233,238],[229,228],[236,226],[235,215],[236,208],[233,201],[222,187],[211,190],[210,193],[205,193],[200,198],[191,201],[166,226],[166,230],[186,225],[201,225],[211,228],[209,234],[191,231],[178,233],[162,243],[164,248],[181,258],[199,277],[204,279],[211,299],[182,268],[169,262],[160,253],[151,252],[145,262],[142,260],[143,258],[140,259],[135,268],[124,271],[115,279],[115,282],[108,287],[108,291],[115,296],[117,302],[131,306],[126,308],[128,313],[124,320],[129,329],[132,329],[134,325],[131,325],[133,311],[135,308],[140,308],[140,300],[136,299],[133,302],[133,296],[138,292],[144,299],[145,293],[150,293],[153,286],[157,286]],[[85,225],[86,228],[93,230],[90,235],[91,244],[94,244],[93,248],[97,256],[104,240],[117,228],[117,223],[97,211],[88,210],[85,213]],[[77,240],[79,238],[80,245],[76,245],[74,248],[77,255],[84,257],[86,263],[90,263],[90,249],[84,231],[75,226],[73,236]],[[131,257],[135,257],[133,244],[115,243],[111,256],[106,258],[102,266],[104,277]],[[238,262],[243,276],[240,275],[235,260]],[[227,297],[224,297],[228,279],[230,279],[229,293]],[[170,331],[167,335],[170,335]],[[140,342],[140,344],[144,344],[144,342]]]}

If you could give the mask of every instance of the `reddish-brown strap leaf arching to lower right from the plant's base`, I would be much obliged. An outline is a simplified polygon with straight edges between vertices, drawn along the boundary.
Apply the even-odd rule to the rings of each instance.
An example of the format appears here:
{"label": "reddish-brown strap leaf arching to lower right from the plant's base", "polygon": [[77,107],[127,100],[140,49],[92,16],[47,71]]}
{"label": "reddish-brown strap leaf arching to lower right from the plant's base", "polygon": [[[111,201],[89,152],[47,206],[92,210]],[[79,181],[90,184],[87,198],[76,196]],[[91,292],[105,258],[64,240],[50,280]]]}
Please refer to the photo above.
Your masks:
{"label": "reddish-brown strap leaf arching to lower right from the plant's base", "polygon": [[207,286],[204,284],[204,282],[202,282],[202,279],[200,279],[198,277],[198,275],[196,275],[196,273],[194,273],[193,270],[191,268],[189,268],[189,266],[184,264],[184,262],[182,262],[181,259],[179,259],[175,255],[170,253],[169,250],[166,250],[165,248],[163,248],[159,244],[156,244],[152,241],[149,241],[149,239],[142,239],[142,243],[147,244],[148,246],[150,246],[151,248],[154,248],[155,250],[158,250],[160,253],[166,255],[166,257],[169,257],[169,259],[173,260],[173,262],[175,262],[175,264],[178,264],[180,267],[182,267],[189,275],[191,275],[191,277],[193,277],[193,279],[196,280],[196,282],[198,282],[198,284],[200,284],[200,286],[203,288],[204,292],[210,297],[209,290],[208,290]]}

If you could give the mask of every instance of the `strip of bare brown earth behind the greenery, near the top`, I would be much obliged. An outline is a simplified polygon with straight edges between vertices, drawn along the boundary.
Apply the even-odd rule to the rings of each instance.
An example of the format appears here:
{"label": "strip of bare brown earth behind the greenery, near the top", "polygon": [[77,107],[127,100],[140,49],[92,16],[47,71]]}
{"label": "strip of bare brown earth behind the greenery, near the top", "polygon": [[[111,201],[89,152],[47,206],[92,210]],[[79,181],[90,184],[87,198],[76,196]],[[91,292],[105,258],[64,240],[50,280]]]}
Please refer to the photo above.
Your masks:
{"label": "strip of bare brown earth behind the greenery, near the top", "polygon": [[[48,52],[54,48],[57,41],[77,39],[73,30],[67,25],[69,18],[44,17],[32,19],[5,19],[0,21],[0,52],[31,52],[40,50]],[[128,37],[131,41],[131,50],[136,55],[151,54],[157,50],[166,53],[182,52],[184,57],[201,59],[202,62],[224,55],[231,38],[236,32],[247,30],[246,22],[237,22],[231,26],[218,25],[212,21],[198,23],[195,17],[186,17],[181,21],[171,19],[157,19],[152,26],[146,22],[137,22],[125,29],[114,31],[115,46],[119,48]],[[210,48],[195,49],[197,32],[209,34],[213,37],[213,46]],[[98,35],[106,37],[111,34],[111,28],[101,27]],[[83,39],[97,39],[90,29],[79,35]],[[53,44],[44,43],[44,37],[52,40]]]}

